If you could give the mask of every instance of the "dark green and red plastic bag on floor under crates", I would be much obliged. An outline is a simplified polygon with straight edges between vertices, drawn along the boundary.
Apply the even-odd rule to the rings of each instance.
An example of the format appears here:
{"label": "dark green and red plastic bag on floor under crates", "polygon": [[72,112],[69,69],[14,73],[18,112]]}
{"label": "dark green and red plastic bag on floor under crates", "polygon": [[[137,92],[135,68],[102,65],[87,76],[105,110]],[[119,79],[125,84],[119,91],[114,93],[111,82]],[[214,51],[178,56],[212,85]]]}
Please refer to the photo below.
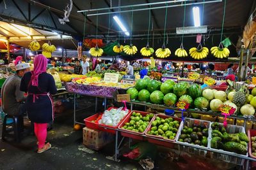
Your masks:
{"label": "dark green and red plastic bag on floor under crates", "polygon": [[131,146],[132,151],[124,154],[124,157],[128,157],[133,160],[141,160],[150,158],[152,160],[155,159],[157,153],[156,145],[152,143],[142,142],[137,143],[134,146]]}

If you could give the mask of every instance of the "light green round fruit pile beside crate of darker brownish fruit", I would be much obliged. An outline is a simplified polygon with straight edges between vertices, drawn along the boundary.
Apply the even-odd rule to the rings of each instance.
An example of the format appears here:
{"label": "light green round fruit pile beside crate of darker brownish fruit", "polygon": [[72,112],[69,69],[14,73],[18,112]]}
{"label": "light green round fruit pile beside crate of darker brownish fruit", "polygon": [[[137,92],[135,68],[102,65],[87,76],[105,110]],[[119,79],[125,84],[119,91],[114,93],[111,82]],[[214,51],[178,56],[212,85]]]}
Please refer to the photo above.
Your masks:
{"label": "light green round fruit pile beside crate of darker brownish fruit", "polygon": [[180,122],[178,120],[173,120],[172,117],[156,117],[156,120],[152,122],[152,127],[150,128],[150,131],[147,132],[147,134],[161,136],[164,139],[173,140],[176,137],[179,127]]}

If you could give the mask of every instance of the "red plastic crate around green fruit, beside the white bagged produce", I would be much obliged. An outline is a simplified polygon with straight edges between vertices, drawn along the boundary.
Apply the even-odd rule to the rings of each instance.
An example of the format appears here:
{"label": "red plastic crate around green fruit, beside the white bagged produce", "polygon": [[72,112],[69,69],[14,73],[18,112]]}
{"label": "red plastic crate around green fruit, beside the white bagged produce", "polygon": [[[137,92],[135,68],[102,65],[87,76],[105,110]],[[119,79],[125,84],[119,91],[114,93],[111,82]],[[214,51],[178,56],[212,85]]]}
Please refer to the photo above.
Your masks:
{"label": "red plastic crate around green fruit, beside the white bagged produce", "polygon": [[150,127],[152,121],[154,120],[154,118],[156,117],[156,115],[154,115],[154,117],[151,118],[149,124],[148,124],[148,127],[145,129],[144,132],[134,132],[134,131],[130,131],[130,130],[127,130],[127,129],[122,129],[122,127],[125,125],[125,123],[127,122],[130,122],[131,120],[131,115],[133,112],[136,112],[136,113],[141,113],[141,115],[143,117],[145,117],[147,114],[150,114],[150,113],[147,113],[147,112],[143,112],[143,111],[136,111],[136,110],[133,110],[131,111],[131,113],[129,113],[129,115],[127,115],[127,117],[124,118],[124,120],[121,122],[121,124],[118,126],[118,129],[120,130],[120,133],[122,136],[125,136],[125,137],[128,137],[128,138],[132,138],[132,139],[137,139],[137,140],[143,140],[143,134],[145,134],[145,132],[147,131],[148,127]]}

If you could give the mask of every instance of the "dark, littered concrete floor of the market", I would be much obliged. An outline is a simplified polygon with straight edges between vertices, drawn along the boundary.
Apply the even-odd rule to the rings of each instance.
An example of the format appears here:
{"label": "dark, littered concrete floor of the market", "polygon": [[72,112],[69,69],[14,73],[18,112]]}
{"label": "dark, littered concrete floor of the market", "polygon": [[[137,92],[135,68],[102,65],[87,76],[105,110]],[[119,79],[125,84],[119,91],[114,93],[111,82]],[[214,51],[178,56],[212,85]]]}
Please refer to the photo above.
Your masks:
{"label": "dark, littered concrete floor of the market", "polygon": [[[93,106],[93,104],[86,105]],[[84,118],[93,113],[91,107],[79,115]],[[81,130],[74,131],[72,121],[72,110],[66,110],[61,115],[57,115],[54,128],[48,132],[47,136],[47,141],[52,144],[52,148],[44,153],[36,153],[36,138],[32,135],[26,136],[21,143],[15,143],[12,139],[0,142],[0,169],[142,169],[138,162],[124,157],[120,157],[120,162],[106,159],[106,156],[114,153],[113,143],[95,153],[81,150],[84,148],[83,132]],[[1,131],[2,126],[0,126],[0,134]],[[186,167],[179,166],[177,162],[170,162],[170,159],[159,157],[159,153],[164,152],[168,152],[168,150],[160,147],[154,169],[186,169]],[[220,161],[208,160],[212,166],[220,164],[214,169],[232,169],[234,167]],[[207,161],[202,160],[202,162]]]}

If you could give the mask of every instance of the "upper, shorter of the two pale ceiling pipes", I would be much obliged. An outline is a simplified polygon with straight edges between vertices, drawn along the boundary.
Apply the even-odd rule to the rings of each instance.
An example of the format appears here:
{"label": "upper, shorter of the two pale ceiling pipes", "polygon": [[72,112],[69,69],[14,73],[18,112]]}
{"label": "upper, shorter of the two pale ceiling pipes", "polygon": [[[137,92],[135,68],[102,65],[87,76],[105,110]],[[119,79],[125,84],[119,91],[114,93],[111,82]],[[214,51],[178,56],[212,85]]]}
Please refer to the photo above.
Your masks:
{"label": "upper, shorter of the two pale ceiling pipes", "polygon": [[115,7],[109,7],[109,8],[97,8],[92,10],[80,10],[79,12],[90,12],[90,11],[103,11],[103,10],[114,10],[114,9],[122,9],[122,8],[133,8],[138,6],[148,6],[148,5],[156,5],[156,4],[170,4],[170,3],[182,3],[187,1],[195,1],[195,0],[179,0],[179,1],[164,1],[164,2],[158,2],[158,3],[144,3],[144,4],[133,4],[133,5],[125,5],[125,6],[115,6]]}

